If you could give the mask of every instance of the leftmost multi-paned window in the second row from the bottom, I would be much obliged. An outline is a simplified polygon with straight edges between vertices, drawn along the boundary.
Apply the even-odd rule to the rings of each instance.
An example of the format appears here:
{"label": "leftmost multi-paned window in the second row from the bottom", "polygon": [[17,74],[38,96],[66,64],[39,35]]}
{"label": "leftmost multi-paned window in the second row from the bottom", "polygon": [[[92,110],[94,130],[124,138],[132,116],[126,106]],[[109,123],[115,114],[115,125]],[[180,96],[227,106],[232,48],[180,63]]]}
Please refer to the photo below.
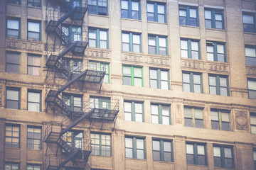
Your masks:
{"label": "leftmost multi-paned window in the second row from the bottom", "polygon": [[20,126],[19,125],[6,125],[5,132],[5,147],[19,148],[20,139]]}

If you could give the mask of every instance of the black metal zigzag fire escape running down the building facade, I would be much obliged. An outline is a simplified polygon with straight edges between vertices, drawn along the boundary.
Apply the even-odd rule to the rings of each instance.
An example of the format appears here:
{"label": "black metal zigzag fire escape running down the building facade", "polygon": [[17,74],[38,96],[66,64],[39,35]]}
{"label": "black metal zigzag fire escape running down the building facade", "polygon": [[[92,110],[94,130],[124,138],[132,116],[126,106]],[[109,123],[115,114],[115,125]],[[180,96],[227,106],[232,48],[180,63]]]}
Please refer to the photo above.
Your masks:
{"label": "black metal zigzag fire escape running down the building facade", "polygon": [[[87,12],[87,1],[85,4],[70,3],[70,0],[48,0],[46,6],[46,67],[48,72],[55,72],[53,79],[48,79],[46,86],[46,111],[50,108],[54,114],[64,115],[62,123],[53,125],[50,123],[44,136],[47,144],[46,159],[43,162],[44,170],[63,169],[65,167],[85,167],[90,157],[90,140],[82,139],[70,143],[70,131],[83,120],[105,120],[114,121],[119,112],[119,102],[110,103],[110,107],[98,107],[90,101],[82,103],[80,109],[71,108],[63,101],[63,92],[70,87],[84,86],[85,83],[102,85],[105,76],[105,68],[95,69],[88,67],[88,63],[70,69],[63,64],[63,57],[84,56],[88,45],[85,40],[70,38],[63,23],[75,23],[81,26]],[[53,40],[53,44],[48,42]],[[59,47],[58,47],[59,44]],[[81,89],[82,89],[81,88]],[[100,90],[99,90],[100,91]],[[54,151],[54,152],[53,152]]]}

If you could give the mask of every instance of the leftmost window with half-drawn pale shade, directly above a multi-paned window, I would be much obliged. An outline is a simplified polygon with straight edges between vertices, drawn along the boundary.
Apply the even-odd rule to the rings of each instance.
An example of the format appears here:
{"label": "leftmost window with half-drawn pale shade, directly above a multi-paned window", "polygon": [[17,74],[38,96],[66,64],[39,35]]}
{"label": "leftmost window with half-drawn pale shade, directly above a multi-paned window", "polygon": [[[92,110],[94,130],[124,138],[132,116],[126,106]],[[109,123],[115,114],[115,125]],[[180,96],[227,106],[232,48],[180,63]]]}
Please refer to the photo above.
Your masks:
{"label": "leftmost window with half-drawn pale shade, directly above a multi-paned window", "polygon": [[20,109],[20,89],[6,87],[6,108]]}

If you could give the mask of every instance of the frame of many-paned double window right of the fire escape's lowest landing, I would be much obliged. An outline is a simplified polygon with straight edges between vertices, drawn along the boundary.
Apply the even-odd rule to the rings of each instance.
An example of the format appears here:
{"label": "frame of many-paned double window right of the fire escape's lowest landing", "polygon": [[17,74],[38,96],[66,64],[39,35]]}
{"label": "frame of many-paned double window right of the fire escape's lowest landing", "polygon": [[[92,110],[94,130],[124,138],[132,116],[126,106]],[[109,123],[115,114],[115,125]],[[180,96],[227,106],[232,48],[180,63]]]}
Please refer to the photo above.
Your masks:
{"label": "frame of many-paned double window right of the fire escape's lowest landing", "polygon": [[[93,143],[93,140],[92,140],[92,137],[91,137],[92,134],[99,135],[99,140],[100,140],[100,144],[99,145]],[[110,145],[107,145],[107,144],[106,145],[102,145],[102,135],[110,136]],[[112,157],[112,135],[111,134],[98,133],[98,132],[90,132],[90,139],[92,140],[91,145],[92,146],[93,145],[97,145],[97,146],[99,146],[99,149],[100,149],[99,150],[100,154],[96,154],[96,152],[95,152],[95,154],[93,154],[93,151],[92,151],[92,155],[93,156]],[[95,138],[95,139],[97,139],[97,138]],[[102,146],[103,147],[110,147],[110,155],[109,156],[102,155]],[[92,147],[92,150],[93,150],[93,147]]]}

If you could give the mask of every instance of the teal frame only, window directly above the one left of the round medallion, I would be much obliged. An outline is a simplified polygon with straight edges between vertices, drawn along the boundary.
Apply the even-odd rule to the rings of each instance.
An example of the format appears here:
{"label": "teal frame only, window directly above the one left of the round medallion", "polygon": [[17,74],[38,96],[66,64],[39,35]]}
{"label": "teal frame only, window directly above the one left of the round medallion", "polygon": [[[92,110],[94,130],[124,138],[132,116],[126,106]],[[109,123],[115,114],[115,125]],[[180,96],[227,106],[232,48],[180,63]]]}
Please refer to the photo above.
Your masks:
{"label": "teal frame only, window directly above the one left of the round medallion", "polygon": [[[225,95],[221,95],[220,94],[220,78],[225,78],[226,79],[226,88],[227,88],[227,96],[230,96],[230,89],[229,89],[229,80],[228,80],[228,76],[226,75],[220,75],[220,74],[208,74],[208,83],[209,83],[209,94],[210,94],[210,77],[215,77],[215,89],[216,89],[216,94],[213,95],[220,95],[220,96],[225,96]],[[223,86],[225,87],[225,86]]]}

